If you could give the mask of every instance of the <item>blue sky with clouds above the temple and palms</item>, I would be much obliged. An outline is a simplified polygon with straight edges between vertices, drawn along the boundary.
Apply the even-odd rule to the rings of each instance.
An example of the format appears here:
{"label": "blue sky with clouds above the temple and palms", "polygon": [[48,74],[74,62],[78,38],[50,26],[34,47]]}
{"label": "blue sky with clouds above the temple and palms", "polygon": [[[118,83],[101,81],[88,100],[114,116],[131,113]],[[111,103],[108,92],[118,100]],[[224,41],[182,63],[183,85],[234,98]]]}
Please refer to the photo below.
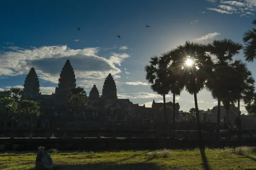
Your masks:
{"label": "blue sky with clouds above the temple and palms", "polygon": [[[151,107],[153,99],[163,101],[145,80],[144,66],[151,56],[186,40],[230,38],[242,43],[243,33],[253,28],[255,10],[256,0],[2,0],[0,90],[23,86],[34,67],[42,94],[52,94],[70,59],[77,86],[87,94],[93,84],[101,93],[111,73],[119,98]],[[242,54],[237,57],[243,59]],[[248,65],[255,76],[255,64]],[[195,107],[186,91],[177,102],[183,111]],[[198,102],[205,110],[217,103],[207,91],[198,94]],[[244,105],[241,111],[246,113]]]}

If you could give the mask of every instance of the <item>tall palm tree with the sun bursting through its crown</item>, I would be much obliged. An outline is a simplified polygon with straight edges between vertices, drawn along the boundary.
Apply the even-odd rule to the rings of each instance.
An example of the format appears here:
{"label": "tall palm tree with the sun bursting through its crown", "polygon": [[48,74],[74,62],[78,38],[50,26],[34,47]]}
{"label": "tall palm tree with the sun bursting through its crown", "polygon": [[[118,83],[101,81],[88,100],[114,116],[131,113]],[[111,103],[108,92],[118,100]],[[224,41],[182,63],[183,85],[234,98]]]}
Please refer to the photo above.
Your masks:
{"label": "tall palm tree with the sun bursting through its crown", "polygon": [[181,68],[181,81],[186,91],[194,95],[198,137],[202,144],[197,94],[204,88],[209,73],[212,71],[212,60],[206,53],[207,46],[201,43],[186,41],[184,45],[177,47],[177,51],[177,55],[173,57]]}

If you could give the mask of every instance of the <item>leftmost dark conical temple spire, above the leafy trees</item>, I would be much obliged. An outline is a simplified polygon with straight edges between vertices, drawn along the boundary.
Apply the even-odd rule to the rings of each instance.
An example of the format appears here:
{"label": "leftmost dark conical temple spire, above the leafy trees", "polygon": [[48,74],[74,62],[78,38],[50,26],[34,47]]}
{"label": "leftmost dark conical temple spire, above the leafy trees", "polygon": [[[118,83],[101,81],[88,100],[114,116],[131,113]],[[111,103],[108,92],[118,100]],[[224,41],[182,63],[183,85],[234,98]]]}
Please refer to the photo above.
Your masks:
{"label": "leftmost dark conical temple spire, above the leafy trees", "polygon": [[40,85],[38,76],[35,72],[35,68],[30,69],[29,74],[27,74],[27,77],[25,79],[23,87],[23,97],[25,99],[35,98],[39,96]]}

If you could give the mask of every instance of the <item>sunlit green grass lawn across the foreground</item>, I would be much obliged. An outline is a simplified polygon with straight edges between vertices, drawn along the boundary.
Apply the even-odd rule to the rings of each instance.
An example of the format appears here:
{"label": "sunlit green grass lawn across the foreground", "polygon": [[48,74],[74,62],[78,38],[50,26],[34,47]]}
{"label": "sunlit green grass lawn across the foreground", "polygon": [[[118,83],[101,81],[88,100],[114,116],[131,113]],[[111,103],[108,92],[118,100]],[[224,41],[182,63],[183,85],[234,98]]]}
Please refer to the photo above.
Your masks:
{"label": "sunlit green grass lawn across the foreground", "polygon": [[[54,170],[202,170],[207,164],[214,170],[256,170],[256,147],[49,153]],[[35,158],[36,152],[0,153],[0,169],[33,170]]]}

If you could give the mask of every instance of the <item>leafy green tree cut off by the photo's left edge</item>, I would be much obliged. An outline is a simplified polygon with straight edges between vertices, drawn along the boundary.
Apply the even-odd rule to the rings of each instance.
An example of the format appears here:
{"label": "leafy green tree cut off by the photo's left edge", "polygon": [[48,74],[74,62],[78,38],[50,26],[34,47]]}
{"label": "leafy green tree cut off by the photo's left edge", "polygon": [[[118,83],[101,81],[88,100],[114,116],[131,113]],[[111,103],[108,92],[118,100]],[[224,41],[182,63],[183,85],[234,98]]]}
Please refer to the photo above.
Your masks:
{"label": "leafy green tree cut off by the photo's left edge", "polygon": [[0,98],[0,120],[3,122],[4,129],[7,123],[15,118],[17,113],[17,102],[13,98]]}

